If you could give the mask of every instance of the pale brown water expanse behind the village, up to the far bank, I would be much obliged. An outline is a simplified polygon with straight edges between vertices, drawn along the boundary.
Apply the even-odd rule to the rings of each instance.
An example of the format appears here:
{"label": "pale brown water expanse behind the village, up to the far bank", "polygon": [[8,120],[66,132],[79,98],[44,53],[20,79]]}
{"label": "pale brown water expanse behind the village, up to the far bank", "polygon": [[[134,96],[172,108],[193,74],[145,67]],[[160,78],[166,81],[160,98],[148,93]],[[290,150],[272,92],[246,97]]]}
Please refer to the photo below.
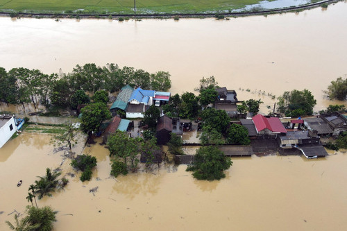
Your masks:
{"label": "pale brown water expanse behind the village, up to the far bank", "polygon": [[229,21],[2,17],[0,66],[46,74],[87,62],[164,70],[171,74],[173,94],[191,92],[200,78],[213,75],[221,86],[236,89],[240,100],[262,99],[264,113],[274,103],[268,94],[306,88],[317,99],[318,111],[342,103],[323,99],[323,90],[347,74],[346,12],[342,1],[328,10]]}

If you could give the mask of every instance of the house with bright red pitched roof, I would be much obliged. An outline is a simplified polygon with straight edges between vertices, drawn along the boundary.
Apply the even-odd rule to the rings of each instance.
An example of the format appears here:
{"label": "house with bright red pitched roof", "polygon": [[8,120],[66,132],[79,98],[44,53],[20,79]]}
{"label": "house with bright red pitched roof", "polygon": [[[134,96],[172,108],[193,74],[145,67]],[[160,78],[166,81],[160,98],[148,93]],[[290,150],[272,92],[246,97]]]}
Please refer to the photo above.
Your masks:
{"label": "house with bright red pitched roof", "polygon": [[252,120],[255,125],[257,135],[287,133],[285,126],[283,126],[278,117],[266,118],[262,114],[257,114],[255,117],[252,117]]}

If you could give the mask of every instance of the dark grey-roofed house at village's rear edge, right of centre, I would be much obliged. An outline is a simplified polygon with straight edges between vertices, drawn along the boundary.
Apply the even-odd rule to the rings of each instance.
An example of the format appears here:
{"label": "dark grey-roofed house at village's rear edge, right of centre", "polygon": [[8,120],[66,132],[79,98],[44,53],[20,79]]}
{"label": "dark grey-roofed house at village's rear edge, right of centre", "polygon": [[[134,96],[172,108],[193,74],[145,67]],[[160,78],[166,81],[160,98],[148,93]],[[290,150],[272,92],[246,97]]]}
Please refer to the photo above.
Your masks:
{"label": "dark grey-roofed house at village's rear edge, right of centre", "polygon": [[235,118],[237,112],[237,94],[235,90],[228,90],[226,87],[216,89],[218,96],[214,102],[214,108],[217,110],[225,110],[229,117]]}

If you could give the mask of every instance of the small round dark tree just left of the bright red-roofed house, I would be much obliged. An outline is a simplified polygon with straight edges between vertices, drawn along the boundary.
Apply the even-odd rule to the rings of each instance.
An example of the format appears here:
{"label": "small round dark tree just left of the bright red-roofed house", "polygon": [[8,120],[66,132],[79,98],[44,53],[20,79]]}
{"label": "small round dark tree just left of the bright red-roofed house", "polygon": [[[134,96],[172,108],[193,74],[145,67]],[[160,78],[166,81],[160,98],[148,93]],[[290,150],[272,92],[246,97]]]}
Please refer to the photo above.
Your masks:
{"label": "small round dark tree just left of the bright red-roofed house", "polygon": [[226,141],[228,144],[248,145],[251,143],[247,128],[236,123],[232,123],[228,130],[226,130]]}

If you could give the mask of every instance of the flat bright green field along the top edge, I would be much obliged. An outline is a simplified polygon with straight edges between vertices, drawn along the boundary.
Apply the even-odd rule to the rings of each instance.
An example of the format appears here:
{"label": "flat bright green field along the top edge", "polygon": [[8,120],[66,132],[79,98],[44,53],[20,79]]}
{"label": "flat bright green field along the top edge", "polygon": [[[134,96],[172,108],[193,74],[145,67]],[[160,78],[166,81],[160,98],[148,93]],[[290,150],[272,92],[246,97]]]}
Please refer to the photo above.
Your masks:
{"label": "flat bright green field along the top edge", "polygon": [[[138,14],[218,12],[259,0],[136,0]],[[133,13],[133,0],[0,0],[0,10],[20,12]]]}

